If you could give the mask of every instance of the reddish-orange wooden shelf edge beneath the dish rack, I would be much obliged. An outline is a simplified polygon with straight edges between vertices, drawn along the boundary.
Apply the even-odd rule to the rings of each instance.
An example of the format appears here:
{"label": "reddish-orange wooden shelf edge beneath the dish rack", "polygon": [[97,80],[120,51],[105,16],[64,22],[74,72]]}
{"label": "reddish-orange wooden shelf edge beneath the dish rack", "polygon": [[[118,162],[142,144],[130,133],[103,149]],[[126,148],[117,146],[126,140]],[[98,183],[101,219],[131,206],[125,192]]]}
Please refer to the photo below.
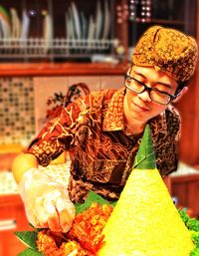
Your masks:
{"label": "reddish-orange wooden shelf edge beneath the dish rack", "polygon": [[128,63],[1,63],[1,77],[40,77],[40,76],[123,76],[129,68]]}

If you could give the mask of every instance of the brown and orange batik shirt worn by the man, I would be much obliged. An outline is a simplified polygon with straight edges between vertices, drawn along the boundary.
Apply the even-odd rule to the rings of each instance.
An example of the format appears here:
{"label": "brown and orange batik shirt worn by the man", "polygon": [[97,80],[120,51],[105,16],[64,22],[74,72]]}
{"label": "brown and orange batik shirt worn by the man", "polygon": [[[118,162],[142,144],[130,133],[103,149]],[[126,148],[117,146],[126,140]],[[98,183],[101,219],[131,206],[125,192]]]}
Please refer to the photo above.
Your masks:
{"label": "brown and orange batik shirt worn by the man", "polygon": [[[133,135],[125,128],[124,93],[124,88],[105,90],[72,103],[41,130],[27,150],[44,166],[70,150],[73,202],[83,202],[90,190],[116,200],[132,170],[141,134]],[[162,176],[177,167],[179,124],[179,115],[171,106],[149,121]]]}

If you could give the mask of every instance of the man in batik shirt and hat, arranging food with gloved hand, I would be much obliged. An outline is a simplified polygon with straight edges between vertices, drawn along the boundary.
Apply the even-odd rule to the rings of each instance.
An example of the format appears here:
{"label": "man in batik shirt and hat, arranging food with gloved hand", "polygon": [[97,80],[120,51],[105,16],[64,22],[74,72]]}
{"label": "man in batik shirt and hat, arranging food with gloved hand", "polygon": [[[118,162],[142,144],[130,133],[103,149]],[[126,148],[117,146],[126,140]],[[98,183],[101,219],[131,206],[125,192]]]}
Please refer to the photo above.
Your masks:
{"label": "man in batik shirt and hat, arranging food with gloved hand", "polygon": [[[67,231],[75,215],[72,202],[84,201],[90,190],[116,200],[146,124],[160,174],[176,170],[180,119],[170,104],[186,93],[196,60],[193,38],[151,27],[134,49],[123,88],[93,93],[47,124],[13,163],[29,221]],[[72,152],[69,196],[65,187],[38,169],[63,150]]]}

